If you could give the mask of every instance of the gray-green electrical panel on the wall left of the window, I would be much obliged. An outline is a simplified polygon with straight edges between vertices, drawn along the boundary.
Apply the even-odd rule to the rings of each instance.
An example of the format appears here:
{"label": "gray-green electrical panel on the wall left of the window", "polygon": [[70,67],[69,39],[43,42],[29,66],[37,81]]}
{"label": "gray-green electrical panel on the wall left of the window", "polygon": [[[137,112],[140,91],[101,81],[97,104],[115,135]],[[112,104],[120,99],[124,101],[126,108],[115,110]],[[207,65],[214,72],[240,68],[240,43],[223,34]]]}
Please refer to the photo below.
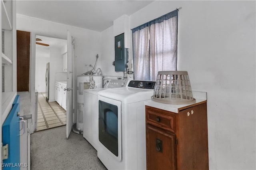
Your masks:
{"label": "gray-green electrical panel on the wall left of the window", "polygon": [[115,71],[126,71],[128,48],[124,48],[124,33],[115,37]]}

